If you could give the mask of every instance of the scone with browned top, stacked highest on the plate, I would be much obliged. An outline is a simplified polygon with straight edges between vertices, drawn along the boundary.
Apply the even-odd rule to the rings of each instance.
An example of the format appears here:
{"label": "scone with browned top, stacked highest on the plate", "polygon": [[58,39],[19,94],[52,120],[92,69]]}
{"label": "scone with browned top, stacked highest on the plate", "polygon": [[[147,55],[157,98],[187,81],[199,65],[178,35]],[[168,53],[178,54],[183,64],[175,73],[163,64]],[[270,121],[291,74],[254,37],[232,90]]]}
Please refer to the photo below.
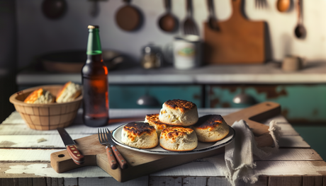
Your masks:
{"label": "scone with browned top, stacked highest on the plate", "polygon": [[190,126],[198,121],[197,106],[187,100],[167,100],[159,112],[159,121],[174,126]]}

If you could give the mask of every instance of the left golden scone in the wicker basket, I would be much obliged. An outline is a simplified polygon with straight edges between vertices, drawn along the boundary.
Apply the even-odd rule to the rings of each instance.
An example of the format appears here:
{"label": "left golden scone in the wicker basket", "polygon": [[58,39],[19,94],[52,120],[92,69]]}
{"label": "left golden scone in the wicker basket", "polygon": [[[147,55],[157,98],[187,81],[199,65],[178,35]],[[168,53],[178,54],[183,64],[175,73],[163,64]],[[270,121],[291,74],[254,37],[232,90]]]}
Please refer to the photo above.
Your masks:
{"label": "left golden scone in the wicker basket", "polygon": [[30,93],[24,100],[24,103],[54,103],[55,97],[49,92],[45,91],[43,88]]}

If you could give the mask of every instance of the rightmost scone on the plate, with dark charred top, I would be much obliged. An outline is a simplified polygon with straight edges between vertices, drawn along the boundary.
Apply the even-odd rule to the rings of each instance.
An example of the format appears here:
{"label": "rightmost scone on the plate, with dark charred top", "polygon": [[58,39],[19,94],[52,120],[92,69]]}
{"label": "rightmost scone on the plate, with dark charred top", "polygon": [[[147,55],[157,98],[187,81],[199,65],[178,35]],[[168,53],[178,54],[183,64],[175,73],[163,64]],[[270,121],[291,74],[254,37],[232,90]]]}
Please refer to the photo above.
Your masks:
{"label": "rightmost scone on the plate, with dark charred top", "polygon": [[199,117],[198,122],[192,126],[198,141],[215,142],[229,134],[229,126],[220,115],[204,115]]}

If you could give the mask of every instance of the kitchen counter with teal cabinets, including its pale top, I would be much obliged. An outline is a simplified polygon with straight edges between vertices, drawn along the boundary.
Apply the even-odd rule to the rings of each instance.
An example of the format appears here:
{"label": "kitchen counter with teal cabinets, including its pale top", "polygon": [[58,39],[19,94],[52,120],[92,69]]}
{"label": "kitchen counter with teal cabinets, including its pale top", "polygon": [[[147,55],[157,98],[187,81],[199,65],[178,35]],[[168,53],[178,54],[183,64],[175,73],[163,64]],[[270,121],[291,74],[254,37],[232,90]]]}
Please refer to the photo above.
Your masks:
{"label": "kitchen counter with teal cabinets, including its pale top", "polygon": [[[150,70],[135,65],[119,66],[109,72],[109,105],[111,108],[153,107],[137,104],[145,95],[157,100],[154,107],[175,98],[189,100],[198,107],[234,108],[274,101],[282,105],[282,114],[293,123],[325,123],[325,71],[326,62],[309,62],[294,72],[282,71],[276,62],[210,65],[191,70],[177,70],[172,66]],[[67,81],[81,83],[81,75],[30,69],[21,71],[16,77],[19,91]],[[252,101],[234,103],[240,93],[245,93]]]}

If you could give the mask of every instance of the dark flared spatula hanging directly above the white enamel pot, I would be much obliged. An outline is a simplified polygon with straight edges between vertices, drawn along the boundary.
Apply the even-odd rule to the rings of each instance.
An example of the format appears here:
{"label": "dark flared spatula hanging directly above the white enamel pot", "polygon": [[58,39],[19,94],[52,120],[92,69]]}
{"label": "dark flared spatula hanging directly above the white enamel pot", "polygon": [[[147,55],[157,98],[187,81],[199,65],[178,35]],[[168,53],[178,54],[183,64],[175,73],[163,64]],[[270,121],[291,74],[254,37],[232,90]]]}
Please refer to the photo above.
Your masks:
{"label": "dark flared spatula hanging directly above the white enamel pot", "polygon": [[192,1],[186,0],[187,16],[184,21],[184,35],[199,35],[198,27],[193,20]]}

